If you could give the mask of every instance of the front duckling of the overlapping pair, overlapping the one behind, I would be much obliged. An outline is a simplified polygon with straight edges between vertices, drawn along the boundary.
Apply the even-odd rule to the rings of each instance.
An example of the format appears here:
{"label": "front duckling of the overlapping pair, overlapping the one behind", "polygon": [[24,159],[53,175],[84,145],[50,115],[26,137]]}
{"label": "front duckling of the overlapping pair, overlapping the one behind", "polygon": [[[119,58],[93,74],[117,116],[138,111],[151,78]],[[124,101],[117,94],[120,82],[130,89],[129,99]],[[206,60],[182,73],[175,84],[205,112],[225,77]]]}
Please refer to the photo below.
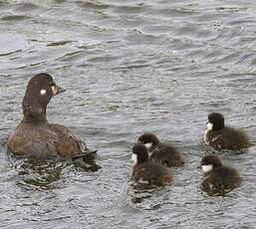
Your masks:
{"label": "front duckling of the overlapping pair, overlapping the one behind", "polygon": [[148,158],[147,148],[141,143],[132,146],[132,165],[131,175],[136,182],[147,181],[149,184],[163,185],[172,180],[169,170]]}

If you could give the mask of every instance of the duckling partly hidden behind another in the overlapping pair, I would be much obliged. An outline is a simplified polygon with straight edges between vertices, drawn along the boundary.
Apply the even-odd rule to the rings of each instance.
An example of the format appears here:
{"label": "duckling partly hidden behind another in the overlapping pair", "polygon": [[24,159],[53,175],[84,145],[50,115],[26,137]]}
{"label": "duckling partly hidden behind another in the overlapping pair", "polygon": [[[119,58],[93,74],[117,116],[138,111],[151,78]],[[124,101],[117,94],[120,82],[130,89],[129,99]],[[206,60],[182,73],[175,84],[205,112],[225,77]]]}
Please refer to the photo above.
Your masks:
{"label": "duckling partly hidden behind another in the overlapping pair", "polygon": [[167,166],[182,166],[184,160],[181,151],[172,145],[160,142],[157,136],[151,132],[146,132],[138,136],[137,142],[151,145],[148,150],[150,159]]}

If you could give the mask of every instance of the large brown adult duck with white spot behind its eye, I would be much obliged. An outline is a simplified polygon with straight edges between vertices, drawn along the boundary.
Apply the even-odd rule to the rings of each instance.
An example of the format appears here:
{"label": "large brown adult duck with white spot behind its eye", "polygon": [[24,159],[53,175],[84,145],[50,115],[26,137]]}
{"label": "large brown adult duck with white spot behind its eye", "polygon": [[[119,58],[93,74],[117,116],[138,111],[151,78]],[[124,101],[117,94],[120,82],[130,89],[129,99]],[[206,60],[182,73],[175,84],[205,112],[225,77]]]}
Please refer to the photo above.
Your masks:
{"label": "large brown adult duck with white spot behind its eye", "polygon": [[51,99],[65,90],[48,74],[34,76],[23,99],[23,119],[9,137],[8,150],[19,155],[67,159],[86,154],[84,140],[61,124],[49,123],[46,108]]}

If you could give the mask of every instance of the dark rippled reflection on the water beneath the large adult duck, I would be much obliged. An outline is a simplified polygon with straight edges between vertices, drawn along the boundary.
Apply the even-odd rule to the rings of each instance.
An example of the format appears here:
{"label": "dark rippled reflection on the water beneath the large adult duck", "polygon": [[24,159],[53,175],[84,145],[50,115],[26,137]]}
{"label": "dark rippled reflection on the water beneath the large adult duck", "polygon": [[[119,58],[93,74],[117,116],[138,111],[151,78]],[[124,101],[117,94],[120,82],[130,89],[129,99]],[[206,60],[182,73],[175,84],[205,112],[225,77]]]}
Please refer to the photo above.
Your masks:
{"label": "dark rippled reflection on the water beneath the large adult duck", "polygon": [[34,157],[10,158],[10,160],[12,167],[17,171],[17,185],[26,190],[62,188],[64,183],[60,179],[70,169],[80,172],[96,172],[101,168],[92,154],[71,161],[43,161]]}

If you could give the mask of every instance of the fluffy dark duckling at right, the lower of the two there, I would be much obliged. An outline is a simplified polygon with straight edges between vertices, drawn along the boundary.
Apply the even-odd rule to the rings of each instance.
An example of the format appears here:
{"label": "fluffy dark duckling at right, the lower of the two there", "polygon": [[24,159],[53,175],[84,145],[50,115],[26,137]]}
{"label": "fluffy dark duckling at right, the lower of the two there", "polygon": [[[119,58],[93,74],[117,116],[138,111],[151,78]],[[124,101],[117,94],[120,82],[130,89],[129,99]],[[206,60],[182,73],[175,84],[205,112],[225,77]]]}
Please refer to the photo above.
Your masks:
{"label": "fluffy dark duckling at right, the lower of the two there", "polygon": [[219,157],[212,153],[203,156],[199,167],[204,171],[202,185],[207,190],[233,189],[241,185],[238,171],[222,165]]}

